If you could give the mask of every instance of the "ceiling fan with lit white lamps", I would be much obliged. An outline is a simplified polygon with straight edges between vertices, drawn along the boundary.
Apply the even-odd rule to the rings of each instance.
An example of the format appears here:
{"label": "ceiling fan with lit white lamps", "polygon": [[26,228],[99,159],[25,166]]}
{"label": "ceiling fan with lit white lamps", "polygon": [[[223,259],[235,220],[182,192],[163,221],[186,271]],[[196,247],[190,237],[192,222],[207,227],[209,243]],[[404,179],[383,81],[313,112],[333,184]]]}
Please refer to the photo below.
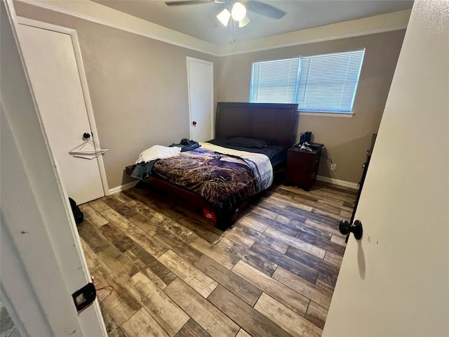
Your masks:
{"label": "ceiling fan with lit white lamps", "polygon": [[217,14],[217,19],[227,27],[229,20],[232,18],[236,22],[239,22],[239,27],[245,27],[250,22],[250,19],[246,15],[246,11],[252,11],[253,13],[267,16],[268,18],[280,19],[286,12],[281,9],[264,4],[257,0],[250,1],[233,1],[233,0],[185,0],[185,1],[166,1],[167,6],[185,6],[185,5],[198,5],[198,4],[228,4],[228,6]]}

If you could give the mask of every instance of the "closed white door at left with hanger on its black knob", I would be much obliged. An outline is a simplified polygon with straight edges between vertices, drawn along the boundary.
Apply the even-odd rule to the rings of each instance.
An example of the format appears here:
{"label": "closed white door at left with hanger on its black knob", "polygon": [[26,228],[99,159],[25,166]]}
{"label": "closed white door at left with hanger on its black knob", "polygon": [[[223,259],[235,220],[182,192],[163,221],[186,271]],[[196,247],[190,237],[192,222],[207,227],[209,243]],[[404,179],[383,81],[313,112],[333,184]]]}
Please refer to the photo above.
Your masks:
{"label": "closed white door at left with hanger on its black knob", "polygon": [[[46,136],[68,196],[77,204],[103,197],[98,158],[69,154],[83,143],[83,133],[93,134],[72,36],[29,25],[19,25],[18,34]],[[92,139],[98,143],[96,133]],[[88,143],[83,150],[95,149]]]}

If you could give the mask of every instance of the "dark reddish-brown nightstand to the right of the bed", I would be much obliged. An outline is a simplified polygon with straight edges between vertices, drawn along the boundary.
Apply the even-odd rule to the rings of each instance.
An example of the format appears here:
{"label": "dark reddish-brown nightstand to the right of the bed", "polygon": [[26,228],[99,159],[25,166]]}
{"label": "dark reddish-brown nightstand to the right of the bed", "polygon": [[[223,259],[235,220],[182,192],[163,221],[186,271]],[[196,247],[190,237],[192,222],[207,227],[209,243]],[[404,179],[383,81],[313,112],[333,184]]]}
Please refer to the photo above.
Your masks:
{"label": "dark reddish-brown nightstand to the right of the bed", "polygon": [[297,185],[310,190],[316,179],[320,163],[322,144],[313,143],[311,152],[292,146],[287,152],[286,176],[284,185]]}

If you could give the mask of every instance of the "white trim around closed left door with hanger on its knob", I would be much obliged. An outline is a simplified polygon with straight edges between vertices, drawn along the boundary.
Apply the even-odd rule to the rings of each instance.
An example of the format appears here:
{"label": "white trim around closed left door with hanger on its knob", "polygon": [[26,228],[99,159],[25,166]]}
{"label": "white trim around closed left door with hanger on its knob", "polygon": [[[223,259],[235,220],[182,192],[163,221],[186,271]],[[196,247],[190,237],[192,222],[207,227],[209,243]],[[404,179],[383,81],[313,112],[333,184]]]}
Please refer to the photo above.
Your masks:
{"label": "white trim around closed left door with hanger on its knob", "polygon": [[[93,140],[95,140],[95,143],[101,144],[100,139],[98,137],[97,124],[95,124],[95,117],[93,115],[91,95],[89,93],[86,72],[84,71],[83,58],[81,56],[81,48],[79,47],[78,34],[76,34],[76,30],[67,28],[67,27],[60,27],[57,25],[52,25],[47,22],[31,20],[28,18],[22,18],[21,16],[18,16],[17,19],[18,19],[17,23],[20,25],[26,25],[26,26],[36,27],[36,28],[41,28],[41,29],[48,29],[48,30],[52,30],[53,32],[60,32],[63,34],[67,34],[71,37],[73,49],[74,49],[74,55],[75,55],[75,59],[76,59],[76,64],[78,65],[78,74],[79,74],[79,79],[81,81],[81,89],[83,91],[84,103],[86,104],[88,121],[89,121],[89,125],[91,127],[91,131],[93,133],[93,135],[92,135]],[[95,147],[97,147],[97,150],[100,150],[100,148],[97,145],[95,145]],[[109,186],[107,185],[105,163],[103,161],[103,157],[98,156],[96,159],[98,162],[98,169],[100,171],[103,192],[105,193],[105,195],[109,195]]]}

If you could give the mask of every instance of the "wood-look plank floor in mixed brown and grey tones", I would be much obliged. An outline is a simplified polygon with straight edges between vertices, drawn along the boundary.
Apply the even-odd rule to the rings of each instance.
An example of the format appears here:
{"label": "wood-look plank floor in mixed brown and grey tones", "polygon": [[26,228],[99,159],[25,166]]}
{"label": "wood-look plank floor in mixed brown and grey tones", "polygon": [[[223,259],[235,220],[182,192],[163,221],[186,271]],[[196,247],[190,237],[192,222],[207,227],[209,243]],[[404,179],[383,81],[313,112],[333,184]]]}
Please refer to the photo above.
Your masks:
{"label": "wood-look plank floor in mixed brown and grey tones", "polygon": [[274,185],[226,232],[146,188],[81,205],[109,336],[321,336],[355,197]]}

